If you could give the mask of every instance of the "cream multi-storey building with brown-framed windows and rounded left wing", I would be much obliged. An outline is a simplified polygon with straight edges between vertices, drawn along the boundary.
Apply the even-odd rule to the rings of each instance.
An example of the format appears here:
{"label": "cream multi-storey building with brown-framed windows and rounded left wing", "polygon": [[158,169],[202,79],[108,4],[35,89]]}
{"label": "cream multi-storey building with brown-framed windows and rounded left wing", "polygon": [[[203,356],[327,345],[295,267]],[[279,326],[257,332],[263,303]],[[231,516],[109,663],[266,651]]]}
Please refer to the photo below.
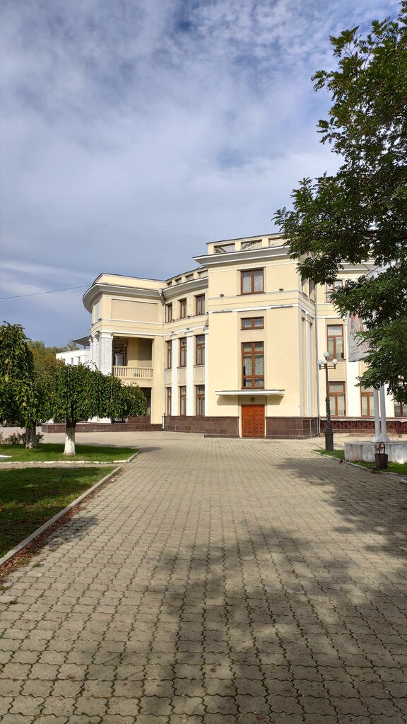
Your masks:
{"label": "cream multi-storey building with brown-framed windows and rounded left wing", "polygon": [[[371,425],[372,391],[356,387],[363,363],[347,359],[330,288],[301,279],[280,235],[209,243],[195,261],[167,281],[101,274],[83,298],[91,361],[140,385],[151,424],[227,437],[316,435],[326,395],[316,360],[328,350],[338,359],[336,425]],[[363,273],[366,265],[345,265],[336,283]],[[403,413],[389,398],[388,416]]]}

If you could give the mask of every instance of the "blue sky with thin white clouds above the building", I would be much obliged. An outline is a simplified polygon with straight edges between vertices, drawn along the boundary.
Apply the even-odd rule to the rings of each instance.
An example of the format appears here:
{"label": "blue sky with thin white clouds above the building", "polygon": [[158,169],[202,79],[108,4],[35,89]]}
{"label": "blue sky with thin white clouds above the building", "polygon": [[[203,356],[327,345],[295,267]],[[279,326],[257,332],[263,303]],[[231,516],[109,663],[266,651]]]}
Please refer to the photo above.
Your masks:
{"label": "blue sky with thin white clouds above the building", "polygon": [[[329,36],[392,0],[3,0],[1,319],[64,344],[102,271],[167,279],[275,231],[337,167],[316,123]],[[80,287],[58,294],[38,292]]]}

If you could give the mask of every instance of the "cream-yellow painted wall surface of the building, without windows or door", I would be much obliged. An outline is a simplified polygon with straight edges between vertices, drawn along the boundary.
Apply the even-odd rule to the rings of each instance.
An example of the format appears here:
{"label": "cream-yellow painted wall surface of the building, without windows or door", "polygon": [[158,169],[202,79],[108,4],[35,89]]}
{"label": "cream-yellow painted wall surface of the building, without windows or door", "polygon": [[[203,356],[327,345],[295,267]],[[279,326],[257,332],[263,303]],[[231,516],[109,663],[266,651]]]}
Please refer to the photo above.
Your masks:
{"label": "cream-yellow painted wall surface of the building, without windows or door", "polygon": [[[172,383],[179,387],[205,382],[207,415],[240,415],[241,404],[248,402],[248,397],[238,394],[242,385],[241,345],[245,341],[264,342],[265,389],[285,390],[283,396],[268,397],[259,395],[258,391],[256,395],[253,390],[256,402],[265,403],[267,416],[316,416],[318,379],[324,413],[324,377],[316,368],[316,358],[327,348],[327,325],[340,323],[337,311],[327,300],[325,286],[317,286],[314,292],[309,280],[301,279],[296,262],[288,258],[277,235],[252,239],[254,252],[240,251],[248,245],[248,240],[232,240],[234,253],[217,254],[214,253],[217,244],[209,245],[209,256],[197,258],[200,264],[207,265],[207,272],[202,266],[167,282],[101,274],[94,285],[98,295],[96,292],[92,295],[91,290],[86,292],[90,295],[88,299],[93,300],[88,301],[88,308],[90,303],[94,306],[98,302],[91,332],[128,337],[127,366],[152,366],[154,377],[145,385],[153,388],[152,422],[161,421],[164,385]],[[240,272],[246,269],[264,269],[264,292],[240,293]],[[344,269],[340,277],[345,280],[360,274],[360,269]],[[203,293],[206,313],[197,316],[196,295]],[[187,300],[187,309],[185,318],[180,319],[182,298]],[[164,303],[172,303],[173,321],[164,322]],[[264,329],[242,330],[241,319],[248,316],[263,316]],[[193,374],[186,369],[164,373],[165,340],[205,331],[209,332],[206,367],[194,368]],[[194,350],[194,365],[195,362]],[[345,359],[338,361],[337,369],[330,372],[330,379],[347,382],[348,392],[350,386],[354,387],[357,373],[358,365],[349,366],[346,359],[345,341]],[[235,390],[236,394],[219,396],[216,394],[219,390]],[[173,399],[178,394],[178,389],[172,390]],[[352,392],[348,397],[356,410],[357,395]]]}

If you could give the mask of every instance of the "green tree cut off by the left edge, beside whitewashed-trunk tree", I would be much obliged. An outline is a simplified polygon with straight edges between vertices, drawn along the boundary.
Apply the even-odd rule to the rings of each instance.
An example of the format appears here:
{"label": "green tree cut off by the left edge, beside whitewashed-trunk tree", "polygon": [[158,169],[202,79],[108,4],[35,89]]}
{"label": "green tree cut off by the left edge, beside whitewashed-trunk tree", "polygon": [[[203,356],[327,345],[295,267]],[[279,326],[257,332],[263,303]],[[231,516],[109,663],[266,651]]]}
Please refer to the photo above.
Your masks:
{"label": "green tree cut off by the left edge, beside whitewashed-trunk tree", "polygon": [[35,376],[33,353],[20,324],[0,327],[0,420],[26,429],[26,447],[35,447],[35,426],[46,416],[48,395]]}

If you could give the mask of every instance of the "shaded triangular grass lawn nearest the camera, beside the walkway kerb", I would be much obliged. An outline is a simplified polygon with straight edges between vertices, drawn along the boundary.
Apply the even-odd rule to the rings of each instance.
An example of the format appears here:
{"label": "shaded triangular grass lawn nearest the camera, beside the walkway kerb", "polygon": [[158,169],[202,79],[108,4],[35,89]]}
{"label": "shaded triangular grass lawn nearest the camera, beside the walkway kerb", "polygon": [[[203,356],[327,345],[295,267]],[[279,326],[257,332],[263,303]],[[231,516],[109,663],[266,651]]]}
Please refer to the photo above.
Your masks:
{"label": "shaded triangular grass lawn nearest the camera, beside the walkway kerb", "polygon": [[0,470],[0,557],[112,470]]}

